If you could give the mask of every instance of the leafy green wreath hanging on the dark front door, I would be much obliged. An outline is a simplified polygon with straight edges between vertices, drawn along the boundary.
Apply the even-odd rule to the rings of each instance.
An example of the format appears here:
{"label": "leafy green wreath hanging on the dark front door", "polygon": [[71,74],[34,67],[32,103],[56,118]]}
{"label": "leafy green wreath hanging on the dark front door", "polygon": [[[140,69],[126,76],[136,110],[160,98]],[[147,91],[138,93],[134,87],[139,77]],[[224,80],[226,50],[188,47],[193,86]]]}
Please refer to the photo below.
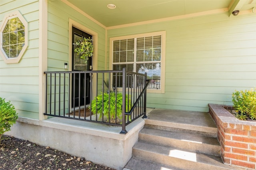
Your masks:
{"label": "leafy green wreath hanging on the dark front door", "polygon": [[93,53],[92,39],[90,37],[82,37],[81,39],[73,43],[73,45],[76,46],[74,52],[80,55],[81,59],[85,59],[85,62],[87,63],[87,60],[89,59],[89,57],[92,57]]}

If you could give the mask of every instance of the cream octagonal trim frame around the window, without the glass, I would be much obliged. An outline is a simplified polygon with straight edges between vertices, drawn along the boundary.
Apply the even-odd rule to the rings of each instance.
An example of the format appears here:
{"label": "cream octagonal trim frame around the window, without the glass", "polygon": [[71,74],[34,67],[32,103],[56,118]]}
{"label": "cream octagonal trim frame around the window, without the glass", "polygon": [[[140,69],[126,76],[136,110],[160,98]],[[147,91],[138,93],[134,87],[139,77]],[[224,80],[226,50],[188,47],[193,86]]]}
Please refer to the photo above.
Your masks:
{"label": "cream octagonal trim frame around the window, without the glass", "polygon": [[[3,42],[3,36],[2,36],[2,31],[4,31],[4,27],[6,26],[6,23],[8,22],[8,20],[18,17],[20,19],[20,21],[22,21],[24,27],[25,27],[25,42],[24,42],[24,46],[22,48],[22,50],[20,51],[20,54],[18,55],[18,57],[15,58],[8,58],[6,56],[6,53],[3,51],[2,49],[2,42]],[[14,11],[12,13],[6,14],[4,16],[4,20],[2,22],[2,25],[0,26],[0,55],[2,56],[2,58],[4,59],[5,63],[19,63],[22,55],[24,54],[24,52],[26,51],[27,47],[28,47],[28,22],[25,20],[25,18],[22,16],[22,14],[20,14],[19,11]]]}

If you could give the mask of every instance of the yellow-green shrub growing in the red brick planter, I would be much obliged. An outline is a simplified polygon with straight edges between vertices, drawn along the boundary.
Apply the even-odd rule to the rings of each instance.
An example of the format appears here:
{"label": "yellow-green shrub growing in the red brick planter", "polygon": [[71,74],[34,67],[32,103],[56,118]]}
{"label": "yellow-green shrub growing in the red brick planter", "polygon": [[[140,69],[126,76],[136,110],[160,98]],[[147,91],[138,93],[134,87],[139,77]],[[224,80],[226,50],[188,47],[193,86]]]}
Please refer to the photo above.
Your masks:
{"label": "yellow-green shrub growing in the red brick planter", "polygon": [[236,117],[241,120],[247,118],[256,120],[256,88],[251,90],[235,91],[232,102],[236,109]]}

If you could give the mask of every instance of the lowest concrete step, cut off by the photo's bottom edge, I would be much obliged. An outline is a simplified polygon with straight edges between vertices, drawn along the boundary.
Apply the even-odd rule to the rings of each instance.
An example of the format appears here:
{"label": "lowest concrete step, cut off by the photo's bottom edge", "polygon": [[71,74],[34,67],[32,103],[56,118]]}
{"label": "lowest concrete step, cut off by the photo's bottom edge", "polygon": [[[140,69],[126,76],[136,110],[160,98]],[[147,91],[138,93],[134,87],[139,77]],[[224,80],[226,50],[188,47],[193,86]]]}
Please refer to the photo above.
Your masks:
{"label": "lowest concrete step, cut off by the photo's bottom edge", "polygon": [[147,160],[132,157],[124,170],[182,170],[171,166],[156,164]]}

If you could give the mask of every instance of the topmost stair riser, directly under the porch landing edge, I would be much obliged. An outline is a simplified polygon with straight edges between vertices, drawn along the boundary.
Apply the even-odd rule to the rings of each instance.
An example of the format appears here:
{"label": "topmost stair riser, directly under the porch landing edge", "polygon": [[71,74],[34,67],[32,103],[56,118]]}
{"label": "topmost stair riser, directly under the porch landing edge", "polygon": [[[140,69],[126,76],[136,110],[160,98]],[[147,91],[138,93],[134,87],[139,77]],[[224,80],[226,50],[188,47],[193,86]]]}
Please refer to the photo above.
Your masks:
{"label": "topmost stair riser, directly under the porch landing edge", "polygon": [[[160,125],[152,125],[152,124],[145,124],[144,127],[152,128],[152,129],[160,129],[164,131],[173,131],[173,132],[180,132],[180,133],[189,133],[194,135],[201,135],[206,137],[217,137],[217,130],[214,129],[211,132],[205,132],[205,131],[195,131],[191,129],[182,129],[182,128],[176,128],[176,127],[168,127],[168,126],[160,126]],[[185,128],[185,127],[184,127]]]}

